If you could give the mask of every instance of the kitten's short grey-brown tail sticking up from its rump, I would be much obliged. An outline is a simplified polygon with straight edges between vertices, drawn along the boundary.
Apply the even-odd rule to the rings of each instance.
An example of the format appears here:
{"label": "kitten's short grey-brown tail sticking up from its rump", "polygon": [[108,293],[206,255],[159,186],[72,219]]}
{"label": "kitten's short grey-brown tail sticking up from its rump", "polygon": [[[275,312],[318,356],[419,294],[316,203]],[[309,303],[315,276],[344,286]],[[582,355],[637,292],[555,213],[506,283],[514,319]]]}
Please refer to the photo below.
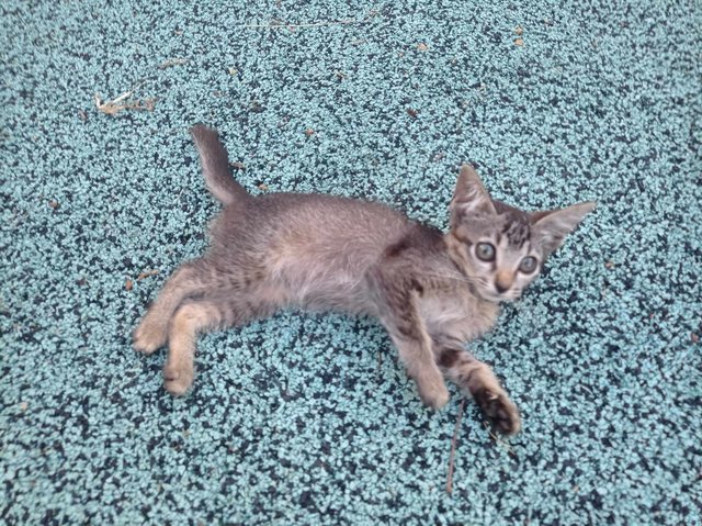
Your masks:
{"label": "kitten's short grey-brown tail sticking up from its rump", "polygon": [[195,141],[205,182],[212,194],[225,205],[248,200],[250,194],[231,177],[227,150],[217,132],[204,124],[195,124],[190,133]]}

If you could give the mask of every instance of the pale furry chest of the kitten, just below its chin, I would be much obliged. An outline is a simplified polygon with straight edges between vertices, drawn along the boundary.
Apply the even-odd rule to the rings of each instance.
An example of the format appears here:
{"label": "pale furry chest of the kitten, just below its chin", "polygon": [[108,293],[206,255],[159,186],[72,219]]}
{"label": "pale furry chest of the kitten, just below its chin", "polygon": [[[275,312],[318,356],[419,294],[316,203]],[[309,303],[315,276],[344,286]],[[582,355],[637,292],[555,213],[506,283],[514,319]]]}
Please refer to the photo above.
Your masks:
{"label": "pale furry chest of the kitten, just below its chin", "polygon": [[488,332],[499,313],[497,304],[475,298],[467,291],[422,298],[419,310],[430,335],[461,342],[469,342]]}

